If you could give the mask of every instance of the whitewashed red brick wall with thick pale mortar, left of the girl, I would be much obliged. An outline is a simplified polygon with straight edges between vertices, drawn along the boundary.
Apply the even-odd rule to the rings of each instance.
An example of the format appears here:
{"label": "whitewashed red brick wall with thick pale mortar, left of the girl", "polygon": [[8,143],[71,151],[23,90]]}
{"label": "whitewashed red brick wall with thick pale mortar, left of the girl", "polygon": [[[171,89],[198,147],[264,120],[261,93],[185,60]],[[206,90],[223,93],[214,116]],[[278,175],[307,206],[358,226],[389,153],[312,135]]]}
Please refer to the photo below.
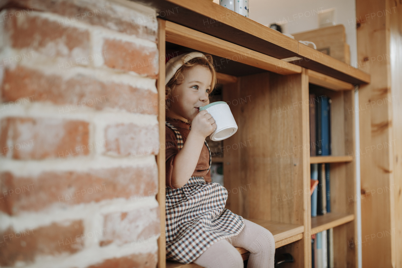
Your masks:
{"label": "whitewashed red brick wall with thick pale mortar, left of the girl", "polygon": [[154,10],[2,4],[0,266],[156,267]]}

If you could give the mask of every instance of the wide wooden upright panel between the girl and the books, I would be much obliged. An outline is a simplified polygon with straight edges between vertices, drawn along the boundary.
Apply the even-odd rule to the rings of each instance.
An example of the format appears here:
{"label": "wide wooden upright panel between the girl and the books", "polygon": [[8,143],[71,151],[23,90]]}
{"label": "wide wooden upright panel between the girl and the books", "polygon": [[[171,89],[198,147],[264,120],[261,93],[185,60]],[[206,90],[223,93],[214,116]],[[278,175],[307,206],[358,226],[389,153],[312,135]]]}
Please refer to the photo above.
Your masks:
{"label": "wide wooden upright panel between the girl and the books", "polygon": [[[236,134],[224,140],[228,208],[245,218],[310,226],[304,191],[310,189],[306,70],[241,76],[237,85],[224,86],[223,97],[238,124]],[[298,260],[292,267],[307,267],[309,230],[297,243],[288,251]]]}

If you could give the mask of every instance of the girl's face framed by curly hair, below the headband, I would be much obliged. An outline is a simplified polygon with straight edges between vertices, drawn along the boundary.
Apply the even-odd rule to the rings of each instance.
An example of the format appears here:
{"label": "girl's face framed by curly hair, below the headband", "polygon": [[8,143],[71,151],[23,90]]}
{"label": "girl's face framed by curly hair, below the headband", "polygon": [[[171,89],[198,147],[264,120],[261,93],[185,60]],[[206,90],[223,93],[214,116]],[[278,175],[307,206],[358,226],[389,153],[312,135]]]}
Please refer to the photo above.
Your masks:
{"label": "girl's face framed by curly hair, below the headband", "polygon": [[183,83],[176,85],[172,92],[166,116],[188,122],[199,113],[200,106],[209,104],[212,74],[206,67],[195,66],[185,71],[183,76]]}

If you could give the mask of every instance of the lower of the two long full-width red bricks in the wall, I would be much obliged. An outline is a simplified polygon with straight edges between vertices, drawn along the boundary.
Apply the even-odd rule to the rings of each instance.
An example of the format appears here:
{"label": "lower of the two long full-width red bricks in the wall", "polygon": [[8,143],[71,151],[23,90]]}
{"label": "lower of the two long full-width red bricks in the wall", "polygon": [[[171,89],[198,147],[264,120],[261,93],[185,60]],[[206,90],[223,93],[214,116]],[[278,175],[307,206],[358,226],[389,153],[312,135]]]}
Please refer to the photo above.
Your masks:
{"label": "lower of the two long full-width red bricks in the wall", "polygon": [[0,174],[0,210],[11,215],[49,206],[154,196],[157,187],[156,163],[88,171],[47,171],[32,176],[4,172]]}

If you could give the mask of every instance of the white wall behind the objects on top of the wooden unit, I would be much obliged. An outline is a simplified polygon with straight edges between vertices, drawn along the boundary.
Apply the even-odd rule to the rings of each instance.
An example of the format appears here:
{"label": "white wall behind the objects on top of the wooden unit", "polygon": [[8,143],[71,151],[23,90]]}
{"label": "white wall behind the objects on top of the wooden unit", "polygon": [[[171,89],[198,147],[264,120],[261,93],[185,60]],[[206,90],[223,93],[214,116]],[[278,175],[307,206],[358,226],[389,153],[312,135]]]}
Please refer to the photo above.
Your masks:
{"label": "white wall behind the objects on top of the wooden unit", "polygon": [[[219,4],[219,0],[213,0]],[[287,21],[284,33],[298,33],[318,28],[318,12],[335,8],[335,23],[346,29],[346,42],[351,49],[351,65],[357,67],[355,0],[250,0],[249,17],[269,26]]]}

